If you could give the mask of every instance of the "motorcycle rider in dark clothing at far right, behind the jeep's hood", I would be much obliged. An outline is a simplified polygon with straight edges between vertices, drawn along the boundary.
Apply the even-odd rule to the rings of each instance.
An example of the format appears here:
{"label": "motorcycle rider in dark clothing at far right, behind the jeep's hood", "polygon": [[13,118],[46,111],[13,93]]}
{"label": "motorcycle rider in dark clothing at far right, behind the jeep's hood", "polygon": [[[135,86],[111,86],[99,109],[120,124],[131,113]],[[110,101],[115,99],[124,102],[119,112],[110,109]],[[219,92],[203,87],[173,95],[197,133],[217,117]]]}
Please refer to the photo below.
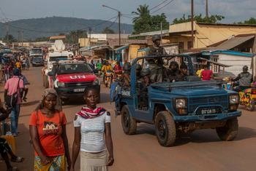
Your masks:
{"label": "motorcycle rider in dark clothing at far right, behind the jeep's hood", "polygon": [[246,90],[250,87],[252,83],[252,74],[248,72],[248,66],[244,65],[243,72],[239,73],[235,79],[231,81],[239,81],[239,86],[234,88],[236,92]]}

